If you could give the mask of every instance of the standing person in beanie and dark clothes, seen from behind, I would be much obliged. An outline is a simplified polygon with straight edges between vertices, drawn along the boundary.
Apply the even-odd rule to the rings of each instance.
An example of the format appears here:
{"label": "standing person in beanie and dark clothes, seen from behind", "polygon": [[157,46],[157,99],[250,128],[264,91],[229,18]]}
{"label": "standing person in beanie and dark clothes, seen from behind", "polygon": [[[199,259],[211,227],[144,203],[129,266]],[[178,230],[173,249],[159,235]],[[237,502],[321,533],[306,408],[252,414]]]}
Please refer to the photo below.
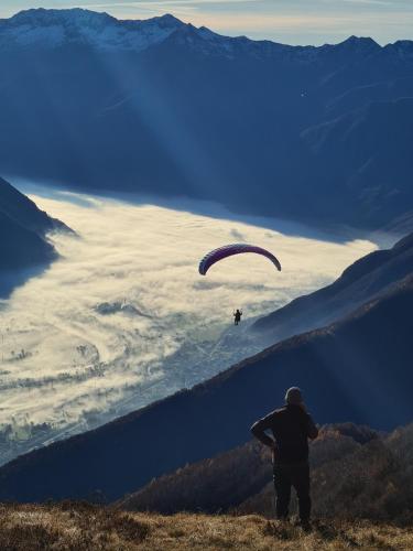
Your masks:
{"label": "standing person in beanie and dark clothes, seen from behind", "polygon": [[[318,436],[318,429],[307,413],[297,387],[285,393],[285,406],[269,413],[251,426],[252,434],[273,452],[273,477],[276,494],[276,517],[289,518],[291,487],[298,498],[300,520],[311,529],[308,439]],[[267,434],[271,431],[273,437]]]}

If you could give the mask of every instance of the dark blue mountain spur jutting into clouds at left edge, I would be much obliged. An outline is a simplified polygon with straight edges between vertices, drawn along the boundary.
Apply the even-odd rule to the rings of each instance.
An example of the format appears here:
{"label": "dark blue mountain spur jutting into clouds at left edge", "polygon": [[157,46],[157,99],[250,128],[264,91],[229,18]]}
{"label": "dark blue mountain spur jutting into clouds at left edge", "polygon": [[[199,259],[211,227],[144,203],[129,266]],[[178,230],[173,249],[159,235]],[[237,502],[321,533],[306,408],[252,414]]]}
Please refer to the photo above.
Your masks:
{"label": "dark blue mountain spur jutting into clouds at left edge", "polygon": [[[68,230],[40,210],[25,195],[0,177],[0,293],[18,280],[15,270],[44,266],[56,258],[45,239],[48,231]],[[4,283],[4,278],[7,283]]]}

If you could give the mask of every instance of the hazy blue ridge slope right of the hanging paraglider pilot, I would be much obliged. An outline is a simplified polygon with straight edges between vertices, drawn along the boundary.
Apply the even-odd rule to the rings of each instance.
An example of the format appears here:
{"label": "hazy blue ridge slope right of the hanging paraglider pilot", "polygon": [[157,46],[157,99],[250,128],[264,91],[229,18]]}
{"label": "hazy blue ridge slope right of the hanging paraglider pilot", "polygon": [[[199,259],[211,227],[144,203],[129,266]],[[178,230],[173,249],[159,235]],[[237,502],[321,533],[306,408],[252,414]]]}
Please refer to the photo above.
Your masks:
{"label": "hazy blue ridge slope right of the hanging paraglider pilot", "polygon": [[413,234],[390,250],[377,250],[357,260],[330,285],[261,317],[252,328],[274,343],[328,325],[410,273],[413,273]]}

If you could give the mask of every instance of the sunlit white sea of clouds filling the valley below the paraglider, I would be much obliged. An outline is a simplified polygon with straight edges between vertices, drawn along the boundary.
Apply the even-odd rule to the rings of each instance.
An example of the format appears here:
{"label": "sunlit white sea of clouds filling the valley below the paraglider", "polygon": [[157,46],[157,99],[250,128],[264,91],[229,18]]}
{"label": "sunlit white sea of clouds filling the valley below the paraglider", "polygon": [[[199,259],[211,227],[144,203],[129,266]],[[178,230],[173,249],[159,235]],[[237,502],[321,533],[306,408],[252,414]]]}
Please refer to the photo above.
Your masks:
{"label": "sunlit white sea of clouds filling the valley below the paraglider", "polygon": [[[376,247],[286,235],[274,229],[281,223],[195,203],[178,210],[66,192],[32,198],[77,236],[51,236],[59,259],[1,304],[0,424],[12,420],[21,439],[30,423],[48,423],[53,437],[85,430],[258,352],[244,338],[249,321]],[[235,241],[270,249],[282,272],[243,255],[198,274],[208,250]]]}

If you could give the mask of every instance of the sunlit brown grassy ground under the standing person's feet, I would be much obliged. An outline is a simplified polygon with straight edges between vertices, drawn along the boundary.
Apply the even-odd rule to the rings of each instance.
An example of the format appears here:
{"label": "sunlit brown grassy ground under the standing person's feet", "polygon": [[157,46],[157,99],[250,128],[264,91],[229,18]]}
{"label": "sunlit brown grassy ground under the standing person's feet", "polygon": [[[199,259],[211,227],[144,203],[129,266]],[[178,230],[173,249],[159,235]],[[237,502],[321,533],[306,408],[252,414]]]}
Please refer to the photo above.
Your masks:
{"label": "sunlit brown grassy ground under the standing person's feet", "polygon": [[315,521],[311,533],[258,516],[127,514],[81,504],[0,506],[0,549],[412,550],[413,529]]}

